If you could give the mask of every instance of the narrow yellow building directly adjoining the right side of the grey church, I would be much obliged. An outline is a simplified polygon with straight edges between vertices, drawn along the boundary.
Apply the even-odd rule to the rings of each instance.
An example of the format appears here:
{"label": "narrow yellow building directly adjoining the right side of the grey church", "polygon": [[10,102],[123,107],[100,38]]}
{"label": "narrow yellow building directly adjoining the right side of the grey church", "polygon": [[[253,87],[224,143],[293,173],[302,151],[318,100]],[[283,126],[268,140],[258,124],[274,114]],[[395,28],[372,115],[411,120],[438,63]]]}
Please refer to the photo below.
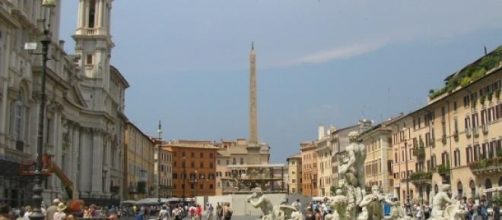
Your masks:
{"label": "narrow yellow building directly adjoining the right side of the grey church", "polygon": [[124,176],[127,184],[124,200],[142,199],[153,195],[154,153],[153,139],[145,135],[138,127],[128,122],[125,128]]}

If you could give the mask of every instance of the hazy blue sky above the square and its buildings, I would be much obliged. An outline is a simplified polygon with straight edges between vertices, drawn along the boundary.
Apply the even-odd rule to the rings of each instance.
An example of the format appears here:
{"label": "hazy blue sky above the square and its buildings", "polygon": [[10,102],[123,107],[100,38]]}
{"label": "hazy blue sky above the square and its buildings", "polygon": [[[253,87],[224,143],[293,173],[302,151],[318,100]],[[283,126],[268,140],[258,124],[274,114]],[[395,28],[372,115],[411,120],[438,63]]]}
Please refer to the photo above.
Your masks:
{"label": "hazy blue sky above the square and its buildings", "polygon": [[[60,38],[74,51],[76,0]],[[502,45],[502,1],[115,0],[112,64],[126,115],[165,140],[248,137],[249,51],[259,139],[285,162],[319,125],[411,112],[446,76]]]}

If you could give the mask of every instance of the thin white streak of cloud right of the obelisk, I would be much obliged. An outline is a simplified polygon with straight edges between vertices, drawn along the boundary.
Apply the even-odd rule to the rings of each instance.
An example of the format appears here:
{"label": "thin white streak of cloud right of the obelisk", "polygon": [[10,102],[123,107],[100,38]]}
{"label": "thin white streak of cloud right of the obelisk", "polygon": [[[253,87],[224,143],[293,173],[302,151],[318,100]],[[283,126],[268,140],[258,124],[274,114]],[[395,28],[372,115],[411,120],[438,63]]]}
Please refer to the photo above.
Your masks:
{"label": "thin white streak of cloud right of the obelisk", "polygon": [[333,60],[348,59],[359,55],[364,55],[376,51],[387,44],[386,40],[355,43],[349,46],[334,48],[331,50],[319,51],[306,55],[295,62],[294,64],[318,64],[326,63]]}

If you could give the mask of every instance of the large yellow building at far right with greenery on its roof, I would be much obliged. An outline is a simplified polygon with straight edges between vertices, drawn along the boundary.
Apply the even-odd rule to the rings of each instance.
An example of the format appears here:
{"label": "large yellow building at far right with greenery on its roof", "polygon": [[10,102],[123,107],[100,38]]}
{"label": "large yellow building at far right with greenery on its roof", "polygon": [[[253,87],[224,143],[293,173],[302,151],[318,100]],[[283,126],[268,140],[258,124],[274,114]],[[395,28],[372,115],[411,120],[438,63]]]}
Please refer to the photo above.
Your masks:
{"label": "large yellow building at far right with greenery on its roof", "polygon": [[407,183],[411,199],[427,200],[443,183],[468,198],[490,199],[485,189],[502,186],[501,51],[449,76],[426,106],[392,123],[394,187],[401,201]]}

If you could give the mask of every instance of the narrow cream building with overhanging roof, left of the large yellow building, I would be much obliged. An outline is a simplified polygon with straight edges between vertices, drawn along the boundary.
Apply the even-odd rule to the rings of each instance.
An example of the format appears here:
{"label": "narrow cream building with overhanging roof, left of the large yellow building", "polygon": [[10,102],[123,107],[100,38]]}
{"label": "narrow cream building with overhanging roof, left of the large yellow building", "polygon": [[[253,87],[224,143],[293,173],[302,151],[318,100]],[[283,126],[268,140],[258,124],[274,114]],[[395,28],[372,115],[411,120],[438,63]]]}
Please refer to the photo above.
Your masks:
{"label": "narrow cream building with overhanging roof, left of the large yellow building", "polygon": [[385,193],[394,192],[392,175],[392,129],[388,124],[400,117],[389,119],[361,133],[359,139],[366,147],[364,179],[368,187],[377,185]]}

